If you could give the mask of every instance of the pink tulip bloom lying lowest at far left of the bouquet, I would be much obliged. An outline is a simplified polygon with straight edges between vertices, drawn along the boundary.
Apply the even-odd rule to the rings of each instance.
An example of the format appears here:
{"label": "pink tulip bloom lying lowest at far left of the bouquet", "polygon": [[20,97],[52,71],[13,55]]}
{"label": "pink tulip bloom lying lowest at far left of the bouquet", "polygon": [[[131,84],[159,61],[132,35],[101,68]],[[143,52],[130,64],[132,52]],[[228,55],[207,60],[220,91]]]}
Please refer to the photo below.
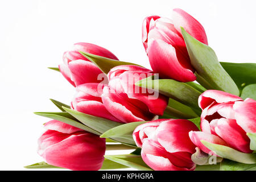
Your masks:
{"label": "pink tulip bloom lying lowest at far left of the bouquet", "polygon": [[38,140],[38,154],[48,164],[72,170],[94,171],[101,168],[105,139],[63,122],[52,120]]}

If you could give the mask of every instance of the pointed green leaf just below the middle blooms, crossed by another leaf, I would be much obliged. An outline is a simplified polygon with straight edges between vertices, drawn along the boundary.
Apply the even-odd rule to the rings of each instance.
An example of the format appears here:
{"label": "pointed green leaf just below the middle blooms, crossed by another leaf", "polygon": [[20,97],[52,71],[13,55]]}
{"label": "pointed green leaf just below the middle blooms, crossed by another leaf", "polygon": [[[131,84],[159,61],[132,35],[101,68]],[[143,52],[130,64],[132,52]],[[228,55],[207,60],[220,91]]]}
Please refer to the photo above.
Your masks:
{"label": "pointed green leaf just below the middle blooms, crossed by another leaf", "polygon": [[[123,125],[122,123],[110,121],[109,119],[96,117],[94,115],[84,114],[76,110],[68,109],[67,107],[63,107],[63,109],[66,110],[69,114],[71,114],[73,117],[75,117],[84,125],[100,133],[100,135],[112,129],[113,127]],[[130,145],[130,146],[136,146],[132,138],[111,138],[111,139],[116,140],[117,142],[121,142],[123,144]]]}

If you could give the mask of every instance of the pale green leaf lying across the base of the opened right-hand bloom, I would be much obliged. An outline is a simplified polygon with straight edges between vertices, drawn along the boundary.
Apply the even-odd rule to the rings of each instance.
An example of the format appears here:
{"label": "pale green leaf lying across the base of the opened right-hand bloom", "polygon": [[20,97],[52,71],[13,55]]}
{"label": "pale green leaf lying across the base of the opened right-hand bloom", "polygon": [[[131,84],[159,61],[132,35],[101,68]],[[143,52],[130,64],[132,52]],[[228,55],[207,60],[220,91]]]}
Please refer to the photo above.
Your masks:
{"label": "pale green leaf lying across the base of the opened right-hand bloom", "polygon": [[234,160],[239,163],[245,164],[254,164],[256,163],[256,154],[246,154],[233,148],[222,146],[220,144],[209,143],[205,140],[201,140],[205,147],[209,148],[209,150],[213,151],[218,156],[222,158]]}

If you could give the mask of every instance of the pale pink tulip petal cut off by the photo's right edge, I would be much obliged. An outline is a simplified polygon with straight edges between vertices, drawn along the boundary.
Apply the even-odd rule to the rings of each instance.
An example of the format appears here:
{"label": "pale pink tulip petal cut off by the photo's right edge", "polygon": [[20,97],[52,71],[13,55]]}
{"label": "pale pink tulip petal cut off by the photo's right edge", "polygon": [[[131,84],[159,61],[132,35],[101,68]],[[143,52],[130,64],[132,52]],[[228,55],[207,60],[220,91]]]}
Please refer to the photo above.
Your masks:
{"label": "pale pink tulip petal cut off by the photo's right edge", "polygon": [[235,102],[233,109],[235,110],[237,124],[246,133],[256,133],[256,101],[246,98],[243,102]]}

